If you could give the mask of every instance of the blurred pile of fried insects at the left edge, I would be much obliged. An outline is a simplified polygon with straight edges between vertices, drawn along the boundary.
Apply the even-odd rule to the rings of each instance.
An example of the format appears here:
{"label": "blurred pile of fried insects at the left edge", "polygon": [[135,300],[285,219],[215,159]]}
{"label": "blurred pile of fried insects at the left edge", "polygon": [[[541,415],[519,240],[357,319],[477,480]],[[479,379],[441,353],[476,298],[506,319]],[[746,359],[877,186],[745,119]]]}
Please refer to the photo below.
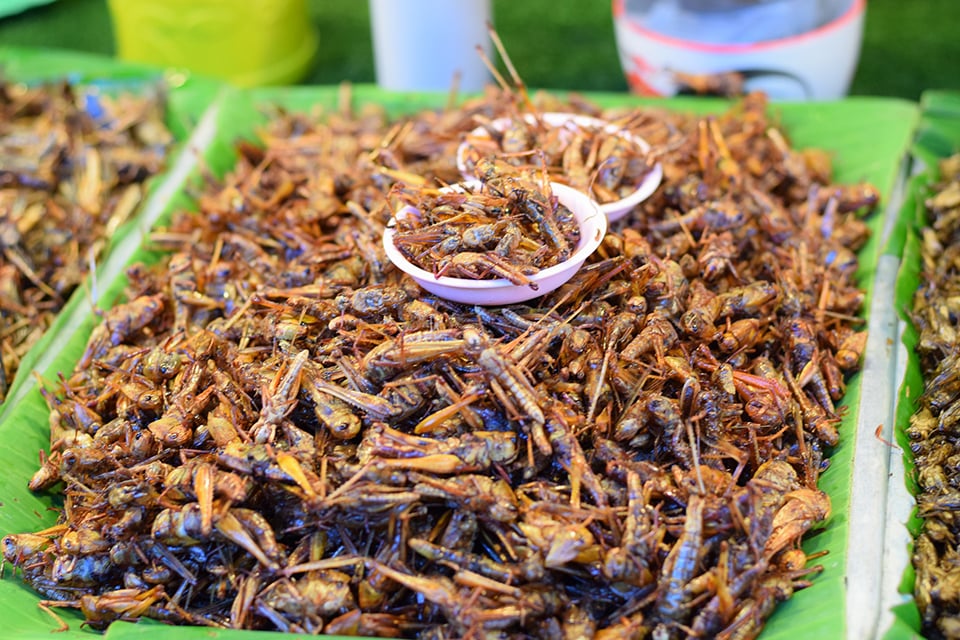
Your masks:
{"label": "blurred pile of fried insects at the left edge", "polygon": [[155,92],[111,97],[0,77],[0,402],[131,218],[172,136]]}

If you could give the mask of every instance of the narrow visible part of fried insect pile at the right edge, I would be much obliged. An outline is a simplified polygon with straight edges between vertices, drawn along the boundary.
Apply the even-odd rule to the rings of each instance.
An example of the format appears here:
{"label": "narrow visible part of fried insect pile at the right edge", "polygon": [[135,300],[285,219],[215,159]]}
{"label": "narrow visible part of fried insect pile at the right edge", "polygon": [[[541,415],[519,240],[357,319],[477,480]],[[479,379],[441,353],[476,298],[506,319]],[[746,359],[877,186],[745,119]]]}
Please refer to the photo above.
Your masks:
{"label": "narrow visible part of fried insect pile at the right edge", "polygon": [[956,533],[956,460],[960,451],[960,354],[957,352],[957,252],[960,251],[960,155],[939,163],[940,179],[925,201],[921,283],[913,299],[917,355],[924,392],[907,435],[916,469],[917,513],[923,525],[913,547],[914,584],[924,635],[960,634],[960,594],[953,590]]}

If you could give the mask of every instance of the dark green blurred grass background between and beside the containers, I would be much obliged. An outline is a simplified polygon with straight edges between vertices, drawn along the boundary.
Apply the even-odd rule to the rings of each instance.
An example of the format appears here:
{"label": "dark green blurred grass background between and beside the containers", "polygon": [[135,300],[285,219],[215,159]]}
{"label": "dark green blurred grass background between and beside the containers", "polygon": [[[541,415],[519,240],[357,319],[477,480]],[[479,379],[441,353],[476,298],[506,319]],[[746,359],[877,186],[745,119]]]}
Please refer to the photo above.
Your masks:
{"label": "dark green blurred grass background between and beside the containers", "polygon": [[[0,0],[0,9],[11,1],[16,0]],[[609,0],[492,4],[497,30],[528,85],[626,91]],[[304,83],[374,82],[368,2],[308,0],[308,5],[320,48]],[[850,93],[918,100],[926,89],[960,88],[958,25],[960,0],[868,0]],[[106,0],[57,0],[0,19],[0,45],[112,55]]]}

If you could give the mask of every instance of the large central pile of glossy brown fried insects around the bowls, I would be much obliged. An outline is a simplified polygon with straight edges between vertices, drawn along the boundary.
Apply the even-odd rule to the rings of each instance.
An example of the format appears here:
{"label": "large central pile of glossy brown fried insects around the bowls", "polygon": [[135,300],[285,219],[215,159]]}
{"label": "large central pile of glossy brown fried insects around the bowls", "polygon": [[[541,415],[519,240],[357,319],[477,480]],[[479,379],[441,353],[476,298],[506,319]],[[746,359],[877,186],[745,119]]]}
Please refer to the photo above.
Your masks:
{"label": "large central pile of glossy brown fried insects around the bowls", "polygon": [[[31,486],[62,491],[62,516],[3,542],[43,606],[97,628],[749,638],[810,584],[799,543],[830,512],[876,190],[832,183],[762,95],[693,116],[514,87],[396,119],[275,111],[154,233],[167,257],[129,269],[47,392]],[[535,141],[523,116],[546,111],[650,152],[520,145],[500,170],[527,177],[501,184],[664,172],[572,280],[470,306],[386,261],[385,225],[460,180],[467,132],[511,117],[504,136]],[[528,223],[515,191],[489,197]],[[513,254],[465,239],[499,224],[468,213],[421,233],[425,264]]]}

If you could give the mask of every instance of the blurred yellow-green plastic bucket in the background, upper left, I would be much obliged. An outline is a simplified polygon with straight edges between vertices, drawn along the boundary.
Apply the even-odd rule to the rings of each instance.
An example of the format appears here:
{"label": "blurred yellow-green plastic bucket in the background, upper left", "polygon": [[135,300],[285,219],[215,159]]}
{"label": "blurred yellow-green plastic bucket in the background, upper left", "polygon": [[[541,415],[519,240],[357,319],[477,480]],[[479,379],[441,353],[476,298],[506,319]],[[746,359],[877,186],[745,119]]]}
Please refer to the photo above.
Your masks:
{"label": "blurred yellow-green plastic bucket in the background, upper left", "polygon": [[306,0],[109,0],[117,56],[240,87],[301,80],[317,50]]}

